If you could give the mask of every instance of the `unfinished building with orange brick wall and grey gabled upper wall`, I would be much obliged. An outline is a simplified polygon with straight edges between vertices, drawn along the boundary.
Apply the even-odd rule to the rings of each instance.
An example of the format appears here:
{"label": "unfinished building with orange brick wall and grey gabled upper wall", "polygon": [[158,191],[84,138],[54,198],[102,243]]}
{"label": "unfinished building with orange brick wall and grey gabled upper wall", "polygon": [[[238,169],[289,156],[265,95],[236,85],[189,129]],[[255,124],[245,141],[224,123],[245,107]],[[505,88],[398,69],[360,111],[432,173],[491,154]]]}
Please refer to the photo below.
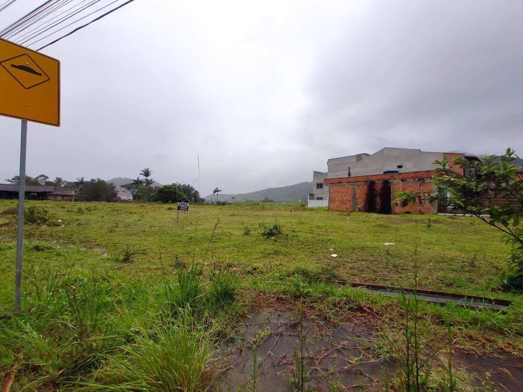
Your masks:
{"label": "unfinished building with orange brick wall and grey gabled upper wall", "polygon": [[[427,201],[411,203],[406,207],[394,205],[396,193],[420,191],[432,193],[429,182],[437,167],[435,160],[448,158],[451,170],[464,175],[463,168],[453,165],[452,159],[467,157],[458,153],[423,152],[419,149],[385,147],[348,166],[343,177],[325,178],[328,188],[328,209],[331,211],[364,211],[377,213],[435,214],[437,205]],[[338,171],[339,174],[339,171]]]}

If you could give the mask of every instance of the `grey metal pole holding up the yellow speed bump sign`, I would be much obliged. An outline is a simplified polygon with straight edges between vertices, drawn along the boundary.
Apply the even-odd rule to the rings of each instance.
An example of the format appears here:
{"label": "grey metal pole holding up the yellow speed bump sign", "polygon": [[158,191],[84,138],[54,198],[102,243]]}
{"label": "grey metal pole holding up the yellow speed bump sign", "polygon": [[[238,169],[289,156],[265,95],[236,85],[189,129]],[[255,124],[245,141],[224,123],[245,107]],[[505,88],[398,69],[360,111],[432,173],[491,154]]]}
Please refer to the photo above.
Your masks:
{"label": "grey metal pole holding up the yellow speed bump sign", "polygon": [[24,202],[26,198],[27,121],[22,120],[20,137],[20,175],[18,177],[18,229],[16,237],[15,313],[20,312],[22,293],[22,257],[24,256]]}

